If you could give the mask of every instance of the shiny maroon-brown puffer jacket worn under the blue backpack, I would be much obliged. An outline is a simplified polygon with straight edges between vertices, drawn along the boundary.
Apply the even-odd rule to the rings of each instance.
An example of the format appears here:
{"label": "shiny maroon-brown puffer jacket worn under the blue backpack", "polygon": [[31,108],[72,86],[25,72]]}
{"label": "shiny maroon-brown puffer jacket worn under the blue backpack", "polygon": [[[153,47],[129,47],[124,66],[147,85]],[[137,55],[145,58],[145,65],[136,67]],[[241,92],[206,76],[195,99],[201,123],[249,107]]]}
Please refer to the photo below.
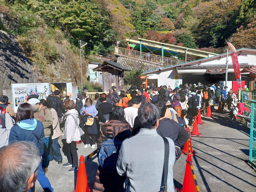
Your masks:
{"label": "shiny maroon-brown puffer jacket worn under the blue backpack", "polygon": [[[108,135],[112,135],[120,141],[125,140],[132,134],[132,128],[127,124],[118,120],[110,120],[107,123],[101,125],[101,132],[98,138],[98,146],[105,141]],[[93,192],[100,191],[124,191],[123,183],[126,177],[117,177],[114,173],[105,173],[98,167]]]}

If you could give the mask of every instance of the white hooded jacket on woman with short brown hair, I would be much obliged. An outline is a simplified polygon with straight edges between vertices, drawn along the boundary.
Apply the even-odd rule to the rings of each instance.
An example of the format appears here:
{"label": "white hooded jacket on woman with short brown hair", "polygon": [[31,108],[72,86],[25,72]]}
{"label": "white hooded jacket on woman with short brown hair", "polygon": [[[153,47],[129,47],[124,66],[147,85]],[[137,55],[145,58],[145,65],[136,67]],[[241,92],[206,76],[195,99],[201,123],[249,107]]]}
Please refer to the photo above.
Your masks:
{"label": "white hooded jacket on woman with short brown hair", "polygon": [[[81,140],[80,131],[76,125],[76,121],[79,125],[77,110],[71,109],[66,113],[66,115],[67,115],[67,120],[65,122],[65,127],[64,127],[64,135],[66,138],[66,142],[71,143],[72,141],[80,141]],[[73,115],[76,121],[71,115]]]}

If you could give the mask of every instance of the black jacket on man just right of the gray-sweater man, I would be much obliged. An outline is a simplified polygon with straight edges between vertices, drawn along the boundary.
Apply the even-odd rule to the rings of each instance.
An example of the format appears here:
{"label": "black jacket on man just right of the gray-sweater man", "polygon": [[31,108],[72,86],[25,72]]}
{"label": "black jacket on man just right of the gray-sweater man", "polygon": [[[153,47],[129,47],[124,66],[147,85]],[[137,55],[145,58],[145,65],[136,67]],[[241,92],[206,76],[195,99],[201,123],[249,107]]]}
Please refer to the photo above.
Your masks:
{"label": "black jacket on man just right of the gray-sweater man", "polygon": [[188,133],[177,122],[172,119],[164,118],[159,120],[156,132],[162,137],[169,137],[175,146],[183,147],[188,140]]}

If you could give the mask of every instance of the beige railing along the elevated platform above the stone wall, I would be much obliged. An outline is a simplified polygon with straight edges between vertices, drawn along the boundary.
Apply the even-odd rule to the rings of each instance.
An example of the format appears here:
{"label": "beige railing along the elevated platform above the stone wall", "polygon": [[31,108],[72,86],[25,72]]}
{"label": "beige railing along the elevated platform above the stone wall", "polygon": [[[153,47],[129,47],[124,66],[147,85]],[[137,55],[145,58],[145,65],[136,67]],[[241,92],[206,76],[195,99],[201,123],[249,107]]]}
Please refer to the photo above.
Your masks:
{"label": "beige railing along the elevated platform above the stone wall", "polygon": [[147,61],[152,61],[156,63],[161,63],[162,65],[177,65],[181,63],[185,63],[186,61],[174,59],[171,57],[164,57],[160,55],[154,55],[150,53],[145,53],[141,51],[136,51],[132,49],[126,49],[122,47],[115,47],[115,54],[127,55],[135,58],[145,59]]}

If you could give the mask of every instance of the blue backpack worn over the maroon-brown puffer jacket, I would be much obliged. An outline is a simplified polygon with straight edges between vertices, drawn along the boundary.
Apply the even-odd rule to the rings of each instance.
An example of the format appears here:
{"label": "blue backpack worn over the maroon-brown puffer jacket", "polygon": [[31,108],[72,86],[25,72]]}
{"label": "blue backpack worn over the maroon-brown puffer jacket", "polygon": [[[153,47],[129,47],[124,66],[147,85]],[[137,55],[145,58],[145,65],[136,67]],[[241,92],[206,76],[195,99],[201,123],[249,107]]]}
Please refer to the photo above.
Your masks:
{"label": "blue backpack worn over the maroon-brown puffer jacket", "polygon": [[112,135],[107,136],[106,140],[101,143],[98,161],[104,172],[113,173],[121,145],[122,141]]}

